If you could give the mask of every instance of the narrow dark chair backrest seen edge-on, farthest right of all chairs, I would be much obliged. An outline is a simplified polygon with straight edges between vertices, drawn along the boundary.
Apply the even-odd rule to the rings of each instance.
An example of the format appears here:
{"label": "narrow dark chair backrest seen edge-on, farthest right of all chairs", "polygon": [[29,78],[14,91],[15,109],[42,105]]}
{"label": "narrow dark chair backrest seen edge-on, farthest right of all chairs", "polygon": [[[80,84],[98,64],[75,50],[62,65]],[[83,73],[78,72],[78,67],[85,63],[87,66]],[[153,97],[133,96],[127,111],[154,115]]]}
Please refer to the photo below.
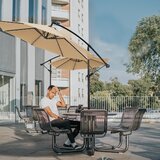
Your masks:
{"label": "narrow dark chair backrest seen edge-on, farthest right of all chairs", "polygon": [[144,108],[139,108],[138,109],[138,112],[137,112],[137,114],[135,116],[133,128],[132,128],[133,131],[139,129],[139,127],[141,125],[141,121],[142,121],[143,115],[144,115],[145,112],[146,112],[146,109],[144,109]]}

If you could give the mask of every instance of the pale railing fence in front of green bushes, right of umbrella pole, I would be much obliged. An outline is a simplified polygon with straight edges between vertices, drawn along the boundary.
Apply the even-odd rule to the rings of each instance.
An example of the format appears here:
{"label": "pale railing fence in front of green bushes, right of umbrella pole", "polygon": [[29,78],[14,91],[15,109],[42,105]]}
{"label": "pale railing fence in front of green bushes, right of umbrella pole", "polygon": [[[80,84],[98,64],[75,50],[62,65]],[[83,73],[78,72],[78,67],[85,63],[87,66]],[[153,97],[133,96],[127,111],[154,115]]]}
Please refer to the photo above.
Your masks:
{"label": "pale railing fence in front of green bushes, right of umbrella pole", "polygon": [[106,109],[109,112],[122,112],[126,107],[146,108],[147,111],[160,109],[158,96],[91,96],[91,108]]}

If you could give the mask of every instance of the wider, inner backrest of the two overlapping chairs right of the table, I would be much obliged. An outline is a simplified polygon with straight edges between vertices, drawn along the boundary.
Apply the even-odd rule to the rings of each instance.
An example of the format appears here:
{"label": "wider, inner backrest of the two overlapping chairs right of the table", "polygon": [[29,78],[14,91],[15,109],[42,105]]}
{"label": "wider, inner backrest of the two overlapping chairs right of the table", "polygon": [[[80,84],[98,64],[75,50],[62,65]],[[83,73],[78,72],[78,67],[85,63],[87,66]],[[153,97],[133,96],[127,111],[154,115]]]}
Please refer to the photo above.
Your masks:
{"label": "wider, inner backrest of the two overlapping chairs right of the table", "polygon": [[132,130],[132,127],[134,125],[134,119],[135,119],[137,112],[138,112],[138,108],[136,107],[125,108],[122,114],[120,127],[124,129],[128,129],[128,130]]}

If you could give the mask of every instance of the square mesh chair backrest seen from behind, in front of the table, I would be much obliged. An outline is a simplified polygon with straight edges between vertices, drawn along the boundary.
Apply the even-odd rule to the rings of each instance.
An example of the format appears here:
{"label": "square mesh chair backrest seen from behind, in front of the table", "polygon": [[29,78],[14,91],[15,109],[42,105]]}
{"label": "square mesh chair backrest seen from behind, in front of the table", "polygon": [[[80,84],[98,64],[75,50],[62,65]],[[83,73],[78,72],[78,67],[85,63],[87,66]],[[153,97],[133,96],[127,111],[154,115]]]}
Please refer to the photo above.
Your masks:
{"label": "square mesh chair backrest seen from behind, in front of the table", "polygon": [[107,132],[106,110],[82,110],[81,111],[81,134],[105,134]]}

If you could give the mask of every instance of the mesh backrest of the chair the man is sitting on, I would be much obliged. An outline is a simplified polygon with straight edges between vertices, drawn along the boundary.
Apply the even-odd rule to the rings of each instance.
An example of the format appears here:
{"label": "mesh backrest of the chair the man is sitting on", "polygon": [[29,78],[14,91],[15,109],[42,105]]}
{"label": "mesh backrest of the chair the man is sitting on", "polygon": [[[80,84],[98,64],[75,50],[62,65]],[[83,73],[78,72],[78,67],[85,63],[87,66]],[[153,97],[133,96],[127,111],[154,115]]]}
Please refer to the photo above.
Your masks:
{"label": "mesh backrest of the chair the man is sitting on", "polygon": [[41,108],[34,110],[37,113],[40,128],[44,131],[50,131],[51,130],[50,119],[45,110]]}

